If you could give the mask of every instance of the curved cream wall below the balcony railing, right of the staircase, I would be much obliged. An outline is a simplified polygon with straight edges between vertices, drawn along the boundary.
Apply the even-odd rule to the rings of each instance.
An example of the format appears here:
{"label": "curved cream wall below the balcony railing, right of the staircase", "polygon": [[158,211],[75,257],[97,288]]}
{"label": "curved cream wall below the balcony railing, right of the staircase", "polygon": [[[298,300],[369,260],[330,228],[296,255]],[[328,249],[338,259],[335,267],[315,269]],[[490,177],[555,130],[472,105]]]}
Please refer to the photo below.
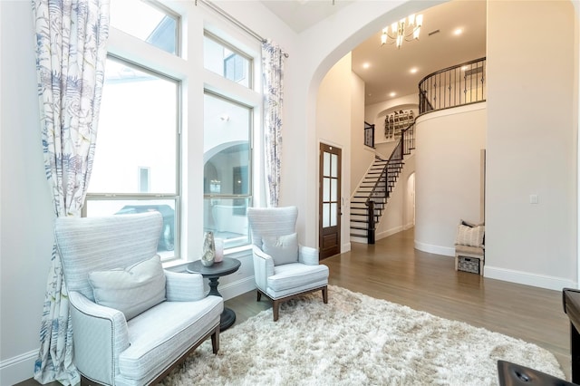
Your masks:
{"label": "curved cream wall below the balcony railing, right of the staircase", "polygon": [[485,102],[417,119],[417,249],[454,256],[459,220],[479,221],[480,150],[486,146],[486,122]]}

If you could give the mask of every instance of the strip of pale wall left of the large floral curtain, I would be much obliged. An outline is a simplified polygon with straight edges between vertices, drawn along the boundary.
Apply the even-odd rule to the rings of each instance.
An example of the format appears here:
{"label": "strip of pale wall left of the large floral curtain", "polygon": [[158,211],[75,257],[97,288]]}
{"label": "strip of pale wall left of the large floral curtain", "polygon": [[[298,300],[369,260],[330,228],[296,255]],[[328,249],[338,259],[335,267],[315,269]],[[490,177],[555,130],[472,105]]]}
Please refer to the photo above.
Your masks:
{"label": "strip of pale wall left of the large floral curtain", "polygon": [[43,169],[31,5],[0,2],[0,384],[33,374],[53,247]]}

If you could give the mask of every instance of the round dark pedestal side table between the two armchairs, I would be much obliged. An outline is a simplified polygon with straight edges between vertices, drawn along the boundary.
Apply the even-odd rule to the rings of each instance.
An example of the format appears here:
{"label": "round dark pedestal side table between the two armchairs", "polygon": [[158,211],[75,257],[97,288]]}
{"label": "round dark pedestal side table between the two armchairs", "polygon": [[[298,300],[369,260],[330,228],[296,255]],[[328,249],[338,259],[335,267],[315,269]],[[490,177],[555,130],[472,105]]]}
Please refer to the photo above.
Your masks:
{"label": "round dark pedestal side table between the two armchairs", "polygon": [[[197,260],[193,263],[189,263],[186,269],[191,274],[199,274],[203,277],[207,277],[209,279],[209,294],[223,297],[218,292],[218,279],[221,276],[233,274],[239,269],[240,265],[242,264],[239,260],[231,257],[224,257],[223,261],[214,263],[211,266],[202,265],[201,260]],[[234,322],[236,322],[236,313],[234,313],[234,310],[224,306],[224,311],[221,313],[219,318],[219,331],[226,330],[234,324]]]}

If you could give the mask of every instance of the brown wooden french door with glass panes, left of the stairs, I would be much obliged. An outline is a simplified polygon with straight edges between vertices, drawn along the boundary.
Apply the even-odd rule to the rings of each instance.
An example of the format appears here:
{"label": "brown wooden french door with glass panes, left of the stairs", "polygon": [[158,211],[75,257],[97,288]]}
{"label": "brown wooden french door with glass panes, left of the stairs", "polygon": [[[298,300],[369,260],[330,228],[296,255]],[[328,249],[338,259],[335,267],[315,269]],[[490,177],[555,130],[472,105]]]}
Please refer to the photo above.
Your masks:
{"label": "brown wooden french door with glass panes, left of the stairs", "polygon": [[318,177],[320,258],[341,253],[341,150],[320,144]]}

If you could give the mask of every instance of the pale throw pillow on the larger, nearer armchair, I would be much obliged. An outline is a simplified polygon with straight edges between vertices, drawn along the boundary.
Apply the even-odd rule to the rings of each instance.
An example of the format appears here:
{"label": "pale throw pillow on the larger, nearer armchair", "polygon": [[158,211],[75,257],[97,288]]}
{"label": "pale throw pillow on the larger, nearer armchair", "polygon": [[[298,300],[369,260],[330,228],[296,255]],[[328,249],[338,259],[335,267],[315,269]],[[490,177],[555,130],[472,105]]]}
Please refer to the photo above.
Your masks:
{"label": "pale throw pillow on the larger, nearer armchair", "polygon": [[165,300],[159,255],[127,268],[92,272],[89,282],[95,303],[121,311],[127,320]]}

